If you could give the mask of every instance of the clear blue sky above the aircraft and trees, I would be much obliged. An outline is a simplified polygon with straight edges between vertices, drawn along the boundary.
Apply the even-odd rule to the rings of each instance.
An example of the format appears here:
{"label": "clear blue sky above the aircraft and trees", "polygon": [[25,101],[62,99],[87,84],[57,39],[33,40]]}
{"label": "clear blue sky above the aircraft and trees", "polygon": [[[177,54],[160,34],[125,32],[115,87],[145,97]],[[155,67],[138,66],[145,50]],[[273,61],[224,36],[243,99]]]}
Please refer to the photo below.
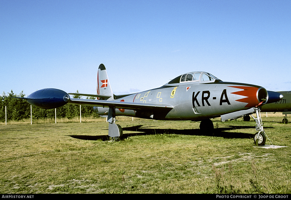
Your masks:
{"label": "clear blue sky above the aircraft and trees", "polygon": [[291,1],[1,0],[0,92],[115,94],[186,72],[291,90]]}

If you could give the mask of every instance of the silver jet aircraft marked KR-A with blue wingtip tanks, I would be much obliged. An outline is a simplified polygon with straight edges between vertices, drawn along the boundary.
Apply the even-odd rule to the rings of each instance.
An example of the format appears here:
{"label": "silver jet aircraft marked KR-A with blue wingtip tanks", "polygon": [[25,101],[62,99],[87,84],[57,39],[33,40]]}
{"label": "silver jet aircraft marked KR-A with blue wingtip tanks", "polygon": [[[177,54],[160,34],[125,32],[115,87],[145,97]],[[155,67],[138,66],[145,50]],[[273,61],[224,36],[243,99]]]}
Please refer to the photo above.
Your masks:
{"label": "silver jet aircraft marked KR-A with blue wingtip tanks", "polygon": [[120,138],[123,133],[120,125],[116,124],[117,115],[157,120],[201,121],[201,131],[212,132],[211,118],[223,117],[229,113],[239,116],[240,111],[253,108],[259,124],[255,138],[259,145],[264,145],[266,136],[260,123],[260,108],[266,103],[283,98],[280,93],[267,91],[261,86],[223,82],[207,72],[185,73],[159,88],[115,95],[103,64],[98,68],[97,94],[78,93],[81,96],[97,97],[97,100],[73,99],[69,94],[63,90],[47,88],[20,99],[43,109],[58,108],[67,103],[94,106],[95,113],[108,117],[108,135],[113,140]]}

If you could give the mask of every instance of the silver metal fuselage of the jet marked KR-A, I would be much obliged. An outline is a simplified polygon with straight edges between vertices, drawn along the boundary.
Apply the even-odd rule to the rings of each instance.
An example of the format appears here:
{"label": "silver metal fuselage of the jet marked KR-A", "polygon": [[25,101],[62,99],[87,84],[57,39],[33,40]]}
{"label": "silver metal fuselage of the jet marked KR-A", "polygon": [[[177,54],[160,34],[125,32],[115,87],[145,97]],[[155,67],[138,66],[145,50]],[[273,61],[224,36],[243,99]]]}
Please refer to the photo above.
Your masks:
{"label": "silver metal fuselage of the jet marked KR-A", "polygon": [[[244,91],[242,88],[251,88],[251,90],[247,95],[241,95],[239,91]],[[204,81],[201,83],[201,81],[194,81],[165,84],[161,88],[146,90],[112,101],[161,103],[173,106],[173,109],[166,113],[163,110],[154,109],[116,109],[116,115],[160,120],[201,121],[202,119],[219,117],[226,113],[255,107],[260,102],[257,94],[259,88],[262,89],[260,86],[241,83],[226,83],[223,81]],[[245,100],[237,101],[240,99]],[[108,110],[109,108],[94,107],[94,111],[101,116],[106,115]]]}

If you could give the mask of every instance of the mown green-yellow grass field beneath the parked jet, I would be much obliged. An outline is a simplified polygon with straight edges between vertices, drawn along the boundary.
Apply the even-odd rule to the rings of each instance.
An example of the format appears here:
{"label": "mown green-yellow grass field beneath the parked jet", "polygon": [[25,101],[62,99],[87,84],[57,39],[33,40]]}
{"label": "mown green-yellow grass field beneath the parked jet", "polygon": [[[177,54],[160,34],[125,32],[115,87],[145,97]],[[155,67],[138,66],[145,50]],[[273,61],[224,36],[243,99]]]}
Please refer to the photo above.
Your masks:
{"label": "mown green-yellow grass field beneath the parked jet", "polygon": [[199,122],[117,119],[119,142],[104,118],[0,123],[0,193],[291,193],[282,114],[263,118],[279,149],[253,147],[252,119],[212,119],[213,136]]}

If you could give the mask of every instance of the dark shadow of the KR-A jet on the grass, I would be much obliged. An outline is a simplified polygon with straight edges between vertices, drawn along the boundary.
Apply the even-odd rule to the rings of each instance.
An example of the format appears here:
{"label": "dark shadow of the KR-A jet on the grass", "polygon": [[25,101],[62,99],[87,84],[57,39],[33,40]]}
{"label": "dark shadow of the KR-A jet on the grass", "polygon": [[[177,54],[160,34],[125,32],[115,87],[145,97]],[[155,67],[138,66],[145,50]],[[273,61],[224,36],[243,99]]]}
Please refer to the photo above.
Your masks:
{"label": "dark shadow of the KR-A jet on the grass", "polygon": [[[155,126],[147,126],[143,127],[143,125],[125,127],[122,128],[123,131],[138,131],[139,133],[123,133],[123,138],[127,138],[130,136],[136,135],[155,135],[155,134],[176,134],[176,135],[207,135],[204,134],[200,129],[162,129],[162,128],[154,128]],[[213,135],[214,137],[223,137],[223,138],[253,138],[253,134],[251,133],[237,133],[237,132],[225,132],[237,129],[249,129],[254,128],[254,126],[228,126],[224,128],[214,128]],[[265,128],[273,128],[273,127],[265,127]],[[109,140],[108,135],[68,135],[72,138],[80,139],[80,140]]]}

